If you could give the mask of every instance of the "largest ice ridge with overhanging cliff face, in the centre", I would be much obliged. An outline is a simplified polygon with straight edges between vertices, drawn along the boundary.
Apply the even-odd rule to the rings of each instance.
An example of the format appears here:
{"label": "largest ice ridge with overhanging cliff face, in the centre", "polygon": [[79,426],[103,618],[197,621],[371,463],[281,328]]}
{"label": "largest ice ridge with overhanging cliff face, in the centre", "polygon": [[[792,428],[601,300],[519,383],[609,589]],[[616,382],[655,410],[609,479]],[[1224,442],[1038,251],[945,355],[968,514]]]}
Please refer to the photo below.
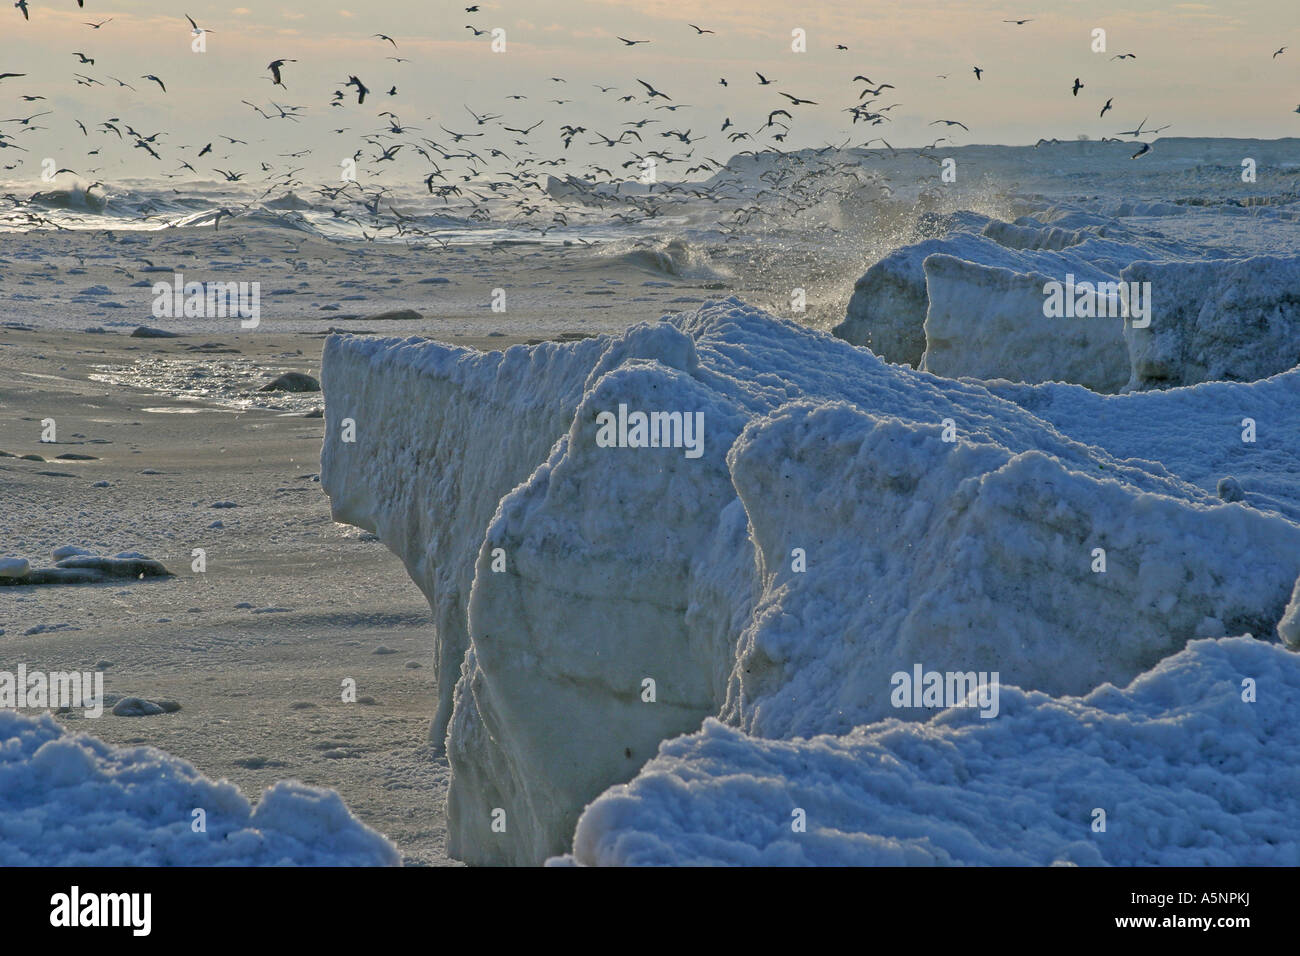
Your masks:
{"label": "largest ice ridge with overhanging cliff face, in the centre", "polygon": [[[448,851],[536,864],[705,718],[840,735],[931,715],[889,705],[890,674],[918,663],[1079,695],[1195,639],[1275,639],[1300,498],[1244,467],[1257,446],[1232,416],[1273,403],[1260,451],[1295,475],[1286,378],[1000,397],[734,299],[504,354],[335,337],[322,484],[406,561],[439,683],[459,674]],[[598,446],[620,405],[702,412],[703,454]],[[1184,434],[1097,433],[1098,407]],[[1216,497],[1228,463],[1244,503]]]}

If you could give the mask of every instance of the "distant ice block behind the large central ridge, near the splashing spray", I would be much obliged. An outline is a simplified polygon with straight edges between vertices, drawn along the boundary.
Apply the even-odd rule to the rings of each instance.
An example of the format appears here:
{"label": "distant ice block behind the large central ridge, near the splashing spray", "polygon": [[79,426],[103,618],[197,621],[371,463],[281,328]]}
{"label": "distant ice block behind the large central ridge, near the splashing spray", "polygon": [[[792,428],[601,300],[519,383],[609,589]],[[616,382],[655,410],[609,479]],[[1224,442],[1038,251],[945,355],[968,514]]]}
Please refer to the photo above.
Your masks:
{"label": "distant ice block behind the large central ridge, near the splashing spray", "polygon": [[[937,375],[1072,382],[1104,393],[1254,381],[1300,364],[1295,256],[1234,259],[1056,207],[1014,224],[966,213],[946,228],[942,238],[871,265],[835,334]],[[1087,282],[1112,294],[1087,297],[1098,315],[1060,317],[1044,312],[1049,282]],[[1149,290],[1149,315],[1124,321],[1114,307],[1115,284]]]}

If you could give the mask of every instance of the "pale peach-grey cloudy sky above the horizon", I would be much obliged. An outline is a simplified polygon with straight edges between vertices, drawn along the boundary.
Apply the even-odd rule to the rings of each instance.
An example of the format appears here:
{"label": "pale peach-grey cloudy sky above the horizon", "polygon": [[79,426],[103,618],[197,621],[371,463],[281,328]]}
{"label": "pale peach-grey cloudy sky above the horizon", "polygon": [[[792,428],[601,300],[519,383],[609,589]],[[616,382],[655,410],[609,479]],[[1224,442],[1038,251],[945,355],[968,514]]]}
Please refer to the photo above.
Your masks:
{"label": "pale peach-grey cloudy sky above the horizon", "polygon": [[[1144,118],[1149,126],[1167,124],[1162,135],[1170,137],[1300,133],[1300,113],[1292,112],[1300,105],[1295,0],[1054,0],[1026,7],[987,0],[497,0],[472,13],[464,8],[473,4],[446,0],[183,3],[86,0],[78,10],[74,0],[29,0],[30,22],[8,9],[8,0],[0,3],[0,73],[27,74],[0,81],[0,120],[53,111],[27,127],[0,122],[0,134],[27,150],[0,150],[0,166],[21,163],[0,169],[0,178],[36,179],[40,160],[51,157],[105,181],[173,173],[181,161],[191,163],[199,178],[213,178],[213,168],[257,172],[260,161],[289,159],[306,179],[335,179],[339,163],[363,146],[360,137],[382,130],[382,111],[445,146],[450,138],[439,124],[486,133],[464,144],[498,147],[510,160],[525,147],[515,146],[517,137],[499,124],[526,127],[542,120],[526,148],[564,157],[575,172],[588,161],[625,161],[634,144],[606,150],[588,143],[595,140],[593,131],[616,137],[623,124],[641,117],[662,121],[641,127],[645,148],[685,153],[675,138],[647,135],[672,129],[698,140],[697,156],[725,160],[755,148],[754,140],[731,142],[737,130],[753,134],[757,148],[770,143],[771,130],[759,130],[768,112],[780,108],[793,114],[783,147],[859,144],[874,137],[894,146],[924,146],[941,135],[950,135],[952,144],[1100,139]],[[205,52],[191,49],[185,14],[211,30]],[[107,18],[99,30],[86,26]],[[1028,22],[1004,22],[1014,18]],[[689,23],[714,33],[697,34]],[[503,29],[506,51],[493,52],[490,33],[474,36],[467,25]],[[1097,29],[1105,30],[1105,52],[1093,51]],[[793,30],[806,33],[806,52],[792,49]],[[378,33],[396,46],[372,35]],[[650,42],[629,47],[618,36]],[[1294,49],[1273,56],[1292,42]],[[95,64],[81,64],[77,52]],[[1121,53],[1136,59],[1113,59]],[[391,56],[406,61],[386,59]],[[276,59],[298,61],[285,65],[287,90],[272,86],[266,64]],[[974,66],[982,68],[980,79]],[[772,85],[760,86],[755,72]],[[103,86],[78,85],[74,73]],[[166,92],[144,74],[161,78]],[[352,74],[372,91],[364,105],[342,86]],[[893,85],[879,99],[867,98],[875,107],[897,104],[885,111],[889,122],[852,122],[845,108],[866,87],[852,79],[857,74]],[[1071,94],[1075,77],[1084,83],[1078,96]],[[646,103],[637,79],[681,108],[653,111],[668,101]],[[614,88],[602,92],[597,85]],[[396,95],[387,95],[394,86]],[[334,90],[348,94],[344,105],[330,105]],[[815,104],[792,105],[781,92]],[[23,101],[23,95],[46,99]],[[636,100],[620,103],[624,95]],[[1108,99],[1113,107],[1098,117]],[[272,101],[304,109],[299,122],[265,120],[240,100],[272,114]],[[502,120],[478,126],[467,107]],[[98,129],[113,117],[146,137],[160,133],[153,147],[161,159]],[[725,133],[724,118],[732,121]],[[937,120],[957,120],[970,131],[933,125]],[[569,150],[560,139],[564,124],[588,130]],[[35,126],[46,129],[27,131]],[[222,135],[248,146],[226,143]],[[196,160],[208,142],[216,143],[213,151]],[[99,155],[86,155],[95,148]],[[283,156],[306,148],[312,153]],[[364,147],[363,165],[376,153]],[[419,183],[428,164],[408,147],[395,161],[369,168]]]}

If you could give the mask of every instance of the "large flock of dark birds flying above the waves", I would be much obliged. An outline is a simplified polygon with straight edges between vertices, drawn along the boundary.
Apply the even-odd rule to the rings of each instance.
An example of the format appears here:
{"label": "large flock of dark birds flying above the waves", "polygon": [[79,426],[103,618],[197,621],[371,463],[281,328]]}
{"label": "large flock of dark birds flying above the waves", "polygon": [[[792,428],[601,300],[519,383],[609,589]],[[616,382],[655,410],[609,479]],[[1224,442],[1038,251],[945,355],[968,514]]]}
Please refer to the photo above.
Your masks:
{"label": "large flock of dark birds flying above the waves", "polygon": [[[83,8],[84,0],[77,0],[77,5],[78,8]],[[30,20],[27,0],[18,0],[14,7],[18,8],[23,20]],[[480,12],[480,8],[469,5],[464,8],[464,12],[474,14]],[[199,26],[188,14],[186,14],[186,20],[190,25],[190,34],[195,38],[204,34],[216,34],[214,30]],[[1028,23],[1034,23],[1035,20],[1022,18],[1002,22],[1020,29]],[[113,18],[84,21],[84,26],[94,34],[99,34],[109,23],[113,23]],[[472,23],[467,25],[465,29],[472,31],[474,36],[489,34],[489,30],[480,29]],[[684,31],[689,30],[690,33],[686,33],[686,36],[694,38],[696,42],[707,43],[708,38],[716,36],[714,30],[696,23],[685,23],[682,29]],[[403,62],[410,62],[408,57],[400,56],[399,42],[389,34],[376,33],[367,39],[374,43],[377,48],[387,51],[389,55],[385,59],[395,61],[398,66]],[[630,51],[650,44],[653,40],[615,36],[614,42],[620,43]],[[378,52],[380,49],[377,49],[376,56],[378,56]],[[835,44],[831,55],[845,55],[848,52],[849,48],[840,43]],[[1277,59],[1283,52],[1286,52],[1286,47],[1278,49],[1273,57]],[[96,57],[87,52],[75,51],[72,56],[77,57],[77,66],[79,68],[90,70],[96,66]],[[1136,59],[1134,53],[1119,53],[1110,57],[1112,61],[1121,62],[1134,59]],[[296,59],[280,57],[266,65],[264,78],[270,83],[272,90],[280,88],[287,95],[289,85],[286,81],[291,79],[291,73],[295,69],[294,64],[298,64]],[[983,82],[984,68],[974,65],[971,73],[974,82]],[[0,72],[0,83],[25,77],[26,74],[22,73]],[[108,85],[104,82],[107,79],[109,83],[116,85],[109,88],[126,88],[133,94],[143,95],[135,85],[107,73],[104,74],[104,79],[88,73],[73,73],[73,78],[78,86],[86,86],[88,90],[96,86],[107,87]],[[939,78],[946,79],[948,74],[939,74]],[[852,133],[840,146],[827,143],[826,148],[811,152],[801,153],[786,147],[786,139],[792,135],[803,108],[822,107],[822,103],[783,88],[785,85],[768,74],[755,70],[753,79],[748,81],[744,77],[720,77],[718,85],[722,87],[732,87],[733,85],[740,86],[742,90],[749,87],[746,99],[750,104],[759,104],[762,103],[760,98],[766,98],[768,103],[762,107],[766,117],[759,125],[754,126],[753,124],[738,124],[731,116],[725,116],[716,130],[710,126],[707,131],[699,131],[699,113],[679,99],[680,91],[671,90],[668,86],[659,88],[662,86],[659,81],[651,82],[634,75],[634,73],[629,75],[629,79],[630,82],[627,85],[627,88],[595,85],[599,95],[612,98],[618,104],[621,104],[628,116],[618,129],[607,127],[607,131],[595,129],[594,124],[590,127],[582,125],[584,120],[581,118],[559,122],[550,117],[542,117],[536,107],[530,109],[532,116],[525,125],[520,121],[511,124],[504,113],[477,112],[469,105],[464,105],[467,117],[464,122],[445,120],[445,122],[451,122],[456,129],[439,122],[438,129],[442,131],[442,135],[434,135],[433,138],[416,135],[424,131],[424,127],[404,124],[394,109],[400,103],[398,86],[390,85],[387,90],[374,92],[358,74],[348,74],[344,81],[338,83],[328,101],[326,109],[339,109],[343,116],[355,116],[356,111],[354,108],[364,108],[368,103],[373,103],[374,99],[381,100],[382,105],[387,108],[380,111],[374,118],[382,121],[382,125],[378,125],[377,129],[360,133],[354,140],[356,148],[352,152],[352,163],[356,166],[365,166],[372,173],[378,173],[382,164],[396,164],[398,155],[403,151],[408,156],[419,155],[422,157],[422,163],[417,176],[421,177],[428,194],[448,204],[468,206],[468,217],[478,221],[494,219],[504,208],[504,213],[510,221],[524,224],[525,228],[533,228],[540,233],[546,233],[559,225],[568,225],[567,213],[564,211],[555,211],[554,204],[546,202],[550,194],[545,183],[547,181],[547,169],[558,170],[559,168],[575,168],[578,165],[576,161],[568,161],[569,147],[576,140],[588,148],[598,150],[603,147],[610,150],[611,159],[604,163],[588,163],[585,166],[581,166],[582,177],[580,179],[571,178],[569,183],[585,182],[606,186],[599,193],[594,189],[588,190],[584,203],[594,203],[603,208],[606,203],[616,200],[620,211],[615,212],[612,219],[625,222],[642,221],[659,216],[666,204],[671,203],[673,198],[705,199],[710,202],[736,200],[736,208],[729,212],[732,217],[731,225],[740,226],[754,216],[771,215],[774,209],[789,212],[790,209],[807,208],[819,202],[829,190],[844,189],[846,179],[849,182],[855,181],[858,185],[874,185],[888,193],[888,186],[880,185],[879,179],[862,179],[855,169],[857,164],[832,161],[827,156],[832,151],[838,152],[849,148],[853,139]],[[157,87],[157,92],[153,94],[155,96],[165,96],[168,94],[165,81],[152,73],[140,75],[138,82],[142,85],[155,85]],[[857,129],[858,124],[870,130],[871,127],[885,127],[887,124],[893,121],[893,111],[902,104],[897,101],[881,103],[884,99],[893,99],[896,94],[893,83],[878,82],[864,73],[855,73],[849,82],[854,85],[853,90],[857,95],[848,105],[835,108],[848,114],[848,126],[850,130]],[[767,87],[771,87],[771,90]],[[1079,91],[1084,87],[1086,83],[1082,78],[1076,77],[1069,88],[1071,95],[1078,98]],[[537,98],[541,99],[542,95],[538,94],[538,88],[556,91],[556,96],[549,98],[549,100],[559,107],[575,103],[573,99],[563,95],[563,91],[571,88],[564,77],[542,78],[537,87],[529,91],[537,94]],[[892,92],[887,96],[887,91]],[[282,95],[281,98],[286,96]],[[32,104],[46,100],[46,96],[22,95],[20,99],[23,103]],[[525,94],[512,94],[506,99],[511,101],[510,105],[515,105],[519,101],[528,100],[529,96]],[[270,99],[263,105],[247,99],[240,100],[240,103],[247,105],[261,121],[274,122],[300,122],[303,114],[311,109],[309,105],[283,104],[277,99]],[[1114,98],[1106,99],[1098,116],[1105,117],[1113,105]],[[679,111],[682,112],[679,113]],[[1296,108],[1296,112],[1300,112],[1300,107]],[[6,151],[27,152],[26,147],[18,142],[18,138],[23,134],[46,129],[34,125],[34,122],[53,114],[55,111],[52,109],[36,108],[36,112],[30,116],[0,120],[0,160],[5,159],[3,153]],[[433,117],[428,117],[428,120],[432,121]],[[247,139],[221,135],[205,144],[177,144],[172,156],[168,157],[166,152],[172,147],[165,143],[169,137],[166,131],[156,131],[147,135],[117,116],[105,117],[94,126],[87,126],[79,118],[74,118],[74,122],[81,134],[90,140],[91,148],[87,150],[86,156],[95,161],[100,161],[99,157],[103,156],[103,151],[105,150],[104,142],[118,147],[125,146],[129,140],[133,150],[142,150],[157,163],[174,163],[176,165],[160,173],[166,178],[178,178],[186,173],[194,177],[207,177],[207,173],[213,172],[220,174],[226,182],[233,183],[244,181],[250,174],[247,169],[240,170],[235,168],[237,165],[246,165],[246,160],[226,161],[225,165],[228,168],[216,166],[212,164],[212,160],[204,164],[207,169],[200,169],[195,165],[199,160],[204,160],[204,157],[213,153],[214,143],[218,139],[225,140],[220,148],[226,153],[224,157],[226,160],[231,160],[229,151],[234,147],[251,148]],[[586,120],[585,122],[590,124],[592,121]],[[716,124],[716,120],[712,122]],[[18,125],[16,130],[12,127],[13,124]],[[967,133],[970,131],[970,127],[961,120],[936,118],[930,121],[928,125],[942,126],[946,130],[959,127]],[[547,126],[550,127],[549,131],[543,129]],[[1156,134],[1164,129],[1167,129],[1167,126],[1148,127],[1144,118],[1135,129],[1122,131],[1118,135],[1132,137],[1136,140],[1141,135]],[[333,131],[342,137],[352,131],[352,127],[339,126]],[[884,129],[879,131],[884,133]],[[95,134],[94,139],[91,138],[92,133]],[[244,133],[244,135],[248,134]],[[114,137],[116,143],[112,139]],[[580,137],[582,139],[578,139]],[[554,146],[549,153],[540,152],[538,150],[545,150],[543,142],[547,139]],[[718,150],[715,155],[722,153],[724,150],[728,152],[740,150],[741,144],[745,144],[751,148],[737,152],[737,156],[776,153],[790,160],[788,164],[789,168],[770,170],[770,173],[764,174],[768,186],[764,190],[768,194],[767,196],[760,193],[757,196],[758,202],[754,202],[755,198],[753,196],[745,196],[742,202],[738,178],[732,181],[727,176],[736,170],[728,163],[701,152],[703,147],[698,144],[708,139],[712,139],[714,143],[710,151]],[[485,142],[478,143],[477,140]],[[944,142],[950,143],[952,140],[946,135],[940,137],[918,152],[920,156],[937,164],[940,160],[933,156],[932,151],[939,148]],[[1060,140],[1040,139],[1036,146],[1057,142]],[[897,152],[881,135],[870,138],[853,148],[870,152],[874,143],[881,143],[884,148],[890,151],[890,155]],[[1139,143],[1139,147],[1132,156],[1134,159],[1148,152],[1150,143]],[[261,160],[261,182],[266,183],[266,190],[259,200],[272,193],[283,193],[294,187],[307,186],[307,183],[298,178],[306,168],[294,166],[294,161],[309,153],[312,153],[309,148],[290,153],[278,153],[278,159],[289,160],[283,164]],[[646,191],[625,190],[620,194],[623,186],[636,181],[640,173],[651,163],[663,166],[680,165],[682,174],[676,177],[675,182],[663,182]],[[21,161],[5,165],[3,169],[14,169],[20,165]],[[92,177],[95,173],[101,172],[103,168],[101,165],[90,168],[84,176],[87,178]],[[72,169],[61,169],[60,172],[83,176]],[[703,186],[703,183],[690,182],[690,177],[694,174],[712,176],[714,178],[707,186]],[[100,185],[95,183],[95,186]],[[612,186],[612,190],[608,186]],[[355,179],[347,181],[344,178],[339,185],[318,186],[316,191],[330,204],[334,216],[338,219],[347,219],[361,226],[377,230],[393,230],[398,235],[407,238],[421,234],[413,219],[404,216],[396,209],[394,198],[389,195],[391,190],[386,186],[367,189],[360,186]],[[17,200],[12,195],[6,198]],[[386,209],[384,208],[385,206],[387,207]],[[494,212],[490,212],[490,208]],[[368,213],[368,222],[361,222],[359,219],[363,211]],[[229,209],[222,212],[233,215]],[[220,217],[217,217],[217,225],[220,225]],[[376,238],[376,235],[370,235],[369,233],[365,233],[365,235],[367,238]]]}

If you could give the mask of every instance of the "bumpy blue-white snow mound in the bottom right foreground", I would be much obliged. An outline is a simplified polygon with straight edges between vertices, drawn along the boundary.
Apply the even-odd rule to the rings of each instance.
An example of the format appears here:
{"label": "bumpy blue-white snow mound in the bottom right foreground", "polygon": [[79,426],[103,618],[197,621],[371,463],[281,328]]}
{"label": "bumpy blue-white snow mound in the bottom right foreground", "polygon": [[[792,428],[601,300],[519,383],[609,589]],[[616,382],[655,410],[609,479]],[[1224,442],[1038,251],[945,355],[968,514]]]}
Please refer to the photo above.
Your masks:
{"label": "bumpy blue-white snow mound in the bottom right foreground", "polygon": [[801,740],[706,721],[588,806],[555,862],[1300,865],[1296,654],[1192,641],[1122,689],[1004,685],[1001,706]]}

